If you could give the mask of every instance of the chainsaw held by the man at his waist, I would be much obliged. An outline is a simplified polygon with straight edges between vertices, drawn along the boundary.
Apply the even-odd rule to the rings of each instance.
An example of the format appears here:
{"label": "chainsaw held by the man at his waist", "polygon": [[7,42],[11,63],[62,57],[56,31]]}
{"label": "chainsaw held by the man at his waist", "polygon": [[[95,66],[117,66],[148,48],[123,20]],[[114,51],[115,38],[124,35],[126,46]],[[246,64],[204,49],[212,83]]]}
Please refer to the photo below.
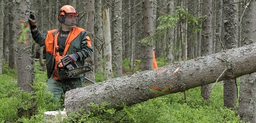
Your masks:
{"label": "chainsaw held by the man at his waist", "polygon": [[[62,65],[61,65],[62,64]],[[62,66],[62,68],[60,68]],[[61,79],[73,78],[79,74],[83,74],[92,70],[91,66],[78,67],[69,56],[64,56],[57,64],[58,74]]]}

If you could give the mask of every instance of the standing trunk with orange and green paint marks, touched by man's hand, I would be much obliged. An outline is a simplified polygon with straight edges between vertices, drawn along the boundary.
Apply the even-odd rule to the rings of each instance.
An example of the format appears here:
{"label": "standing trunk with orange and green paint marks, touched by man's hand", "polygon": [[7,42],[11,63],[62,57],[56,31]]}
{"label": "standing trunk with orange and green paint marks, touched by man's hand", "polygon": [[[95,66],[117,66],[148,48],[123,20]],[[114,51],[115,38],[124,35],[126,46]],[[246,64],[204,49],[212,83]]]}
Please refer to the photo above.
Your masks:
{"label": "standing trunk with orange and green paint marks, touched by man's hand", "polygon": [[14,22],[17,35],[17,80],[18,87],[26,92],[32,91],[34,80],[34,55],[32,54],[32,36],[30,32],[29,16],[30,2],[27,0],[16,1]]}

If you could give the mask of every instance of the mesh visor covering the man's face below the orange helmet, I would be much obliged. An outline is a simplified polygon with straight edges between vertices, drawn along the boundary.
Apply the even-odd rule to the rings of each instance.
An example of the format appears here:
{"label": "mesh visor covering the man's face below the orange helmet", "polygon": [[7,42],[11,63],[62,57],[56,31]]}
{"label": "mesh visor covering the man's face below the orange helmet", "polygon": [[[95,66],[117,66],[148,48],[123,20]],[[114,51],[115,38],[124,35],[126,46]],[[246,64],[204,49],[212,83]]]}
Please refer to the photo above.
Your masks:
{"label": "mesh visor covering the man's face below the orange helmet", "polygon": [[66,13],[64,15],[64,25],[79,26],[79,14],[78,13]]}

